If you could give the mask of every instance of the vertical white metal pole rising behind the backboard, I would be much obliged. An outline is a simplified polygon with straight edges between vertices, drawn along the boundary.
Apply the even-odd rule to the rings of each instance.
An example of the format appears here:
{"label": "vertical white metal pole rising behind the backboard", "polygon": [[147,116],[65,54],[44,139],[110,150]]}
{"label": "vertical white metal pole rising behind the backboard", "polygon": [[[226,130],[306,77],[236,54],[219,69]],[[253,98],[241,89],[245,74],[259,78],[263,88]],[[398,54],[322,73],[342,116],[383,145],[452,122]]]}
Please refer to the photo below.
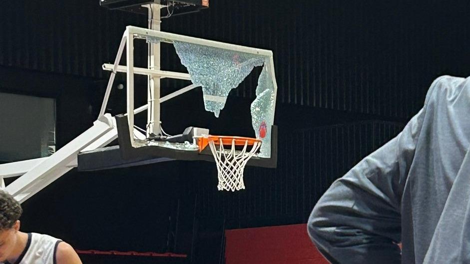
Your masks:
{"label": "vertical white metal pole rising behind the backboard", "polygon": [[[148,28],[160,31],[160,9],[163,5],[148,4]],[[148,68],[160,70],[160,43],[148,43]],[[161,135],[160,129],[160,76],[148,76],[147,137]]]}

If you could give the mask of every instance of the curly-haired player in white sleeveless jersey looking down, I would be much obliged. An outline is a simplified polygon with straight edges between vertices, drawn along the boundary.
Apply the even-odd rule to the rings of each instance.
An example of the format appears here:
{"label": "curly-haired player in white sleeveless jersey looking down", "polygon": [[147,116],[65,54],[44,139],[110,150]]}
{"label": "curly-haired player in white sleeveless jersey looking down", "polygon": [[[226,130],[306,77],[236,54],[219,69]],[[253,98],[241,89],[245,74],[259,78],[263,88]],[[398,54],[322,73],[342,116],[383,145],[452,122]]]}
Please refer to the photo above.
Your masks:
{"label": "curly-haired player in white sleeveless jersey looking down", "polygon": [[0,190],[0,264],[82,264],[67,243],[19,231],[21,205]]}

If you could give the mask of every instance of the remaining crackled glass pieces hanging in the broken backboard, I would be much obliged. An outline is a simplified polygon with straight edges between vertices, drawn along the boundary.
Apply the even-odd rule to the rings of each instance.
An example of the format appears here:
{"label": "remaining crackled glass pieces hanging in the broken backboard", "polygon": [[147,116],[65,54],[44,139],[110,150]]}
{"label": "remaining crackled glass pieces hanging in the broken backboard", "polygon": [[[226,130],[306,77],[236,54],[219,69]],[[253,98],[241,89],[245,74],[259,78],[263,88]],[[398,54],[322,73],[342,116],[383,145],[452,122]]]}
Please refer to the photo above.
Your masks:
{"label": "remaining crackled glass pieces hanging in the broken backboard", "polygon": [[173,44],[191,81],[202,86],[205,109],[216,117],[224,108],[230,90],[237,88],[254,67],[263,66],[251,115],[256,137],[263,141],[258,156],[269,158],[275,107],[274,85],[266,66],[269,57],[180,41]]}

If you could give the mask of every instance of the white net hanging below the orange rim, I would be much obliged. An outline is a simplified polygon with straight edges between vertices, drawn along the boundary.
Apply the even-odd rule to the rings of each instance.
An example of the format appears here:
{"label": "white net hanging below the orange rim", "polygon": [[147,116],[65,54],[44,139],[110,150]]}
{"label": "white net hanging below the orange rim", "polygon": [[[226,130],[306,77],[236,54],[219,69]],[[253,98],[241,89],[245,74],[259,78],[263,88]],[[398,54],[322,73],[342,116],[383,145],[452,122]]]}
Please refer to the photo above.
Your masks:
{"label": "white net hanging below the orange rim", "polygon": [[[217,146],[218,145],[218,146]],[[261,146],[260,141],[255,141],[252,148],[247,151],[248,140],[241,151],[235,149],[235,139],[232,140],[232,148],[230,150],[224,149],[222,139],[219,139],[218,144],[214,140],[209,140],[209,147],[214,155],[215,163],[217,164],[217,172],[219,184],[217,189],[219,191],[239,191],[245,189],[243,183],[243,171],[248,160],[255,155],[256,151]]]}

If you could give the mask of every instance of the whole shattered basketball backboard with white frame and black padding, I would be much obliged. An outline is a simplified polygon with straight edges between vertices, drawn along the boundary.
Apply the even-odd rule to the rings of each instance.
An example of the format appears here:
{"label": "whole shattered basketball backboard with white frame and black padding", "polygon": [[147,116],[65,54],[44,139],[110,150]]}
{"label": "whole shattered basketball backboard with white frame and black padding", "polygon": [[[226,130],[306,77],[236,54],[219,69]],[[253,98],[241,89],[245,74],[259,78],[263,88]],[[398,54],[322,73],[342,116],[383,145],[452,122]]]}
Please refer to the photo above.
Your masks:
{"label": "whole shattered basketball backboard with white frame and black padding", "polygon": [[[134,41],[173,45],[181,64],[186,67],[188,72],[164,71],[134,66],[134,47],[136,47]],[[126,63],[125,65],[119,65],[124,47],[126,48]],[[119,148],[109,150],[118,151],[122,160],[116,161],[116,164],[109,164],[108,159],[106,161],[108,167],[122,166],[122,163],[126,163],[123,160],[130,163],[148,162],[149,160],[157,162],[168,159],[214,161],[215,155],[213,155],[211,148],[206,146],[201,148],[201,144],[199,144],[201,137],[207,138],[210,135],[210,127],[193,127],[191,120],[188,120],[188,129],[184,132],[181,131],[181,135],[169,136],[165,135],[164,132],[153,134],[149,133],[148,129],[138,128],[134,123],[134,115],[145,110],[152,112],[157,109],[154,116],[159,117],[161,103],[190,90],[201,89],[202,98],[194,100],[203,100],[205,110],[218,117],[220,112],[224,111],[229,92],[236,89],[255,67],[260,67],[261,73],[258,77],[256,98],[251,103],[250,112],[254,139],[260,142],[260,147],[259,150],[250,155],[249,160],[245,163],[248,166],[274,168],[277,164],[277,127],[274,125],[277,83],[272,51],[128,26],[122,37],[114,64],[103,64],[103,69],[112,73],[100,115],[104,115],[116,73],[126,74],[127,87],[127,113],[117,115],[115,118]],[[188,80],[192,84],[159,99],[152,98],[150,94],[147,104],[135,107],[135,75],[146,75],[158,82],[163,78],[172,78]],[[160,120],[156,120],[150,114],[147,128],[152,124],[159,123]],[[145,135],[140,132],[145,133]],[[236,151],[240,153],[240,150]],[[81,166],[82,170],[96,168],[96,161],[104,160],[98,156],[107,155],[105,153],[103,151],[94,151],[80,154],[78,158],[79,169],[80,165],[83,165]],[[158,160],[159,158],[163,160]],[[85,166],[85,164],[88,166]]]}

